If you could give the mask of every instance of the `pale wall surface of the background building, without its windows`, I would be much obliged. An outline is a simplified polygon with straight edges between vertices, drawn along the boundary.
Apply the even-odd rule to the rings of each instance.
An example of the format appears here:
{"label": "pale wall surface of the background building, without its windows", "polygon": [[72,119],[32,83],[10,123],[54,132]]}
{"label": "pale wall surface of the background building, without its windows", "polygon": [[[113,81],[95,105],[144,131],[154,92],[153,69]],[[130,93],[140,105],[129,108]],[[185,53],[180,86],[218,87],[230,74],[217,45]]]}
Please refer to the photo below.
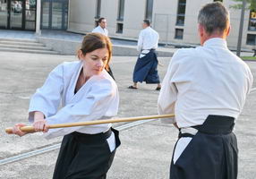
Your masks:
{"label": "pale wall surface of the background building, without its windows", "polygon": [[[70,0],[69,28],[74,32],[86,33],[95,27],[96,0]],[[152,27],[158,31],[161,43],[199,44],[197,15],[201,6],[213,0],[187,0],[185,20],[183,26],[176,25],[178,0],[154,0]],[[107,30],[110,37],[137,39],[141,30],[141,22],[145,18],[146,0],[124,0],[124,21],[117,21],[119,0],[101,1],[100,16],[107,18]],[[230,11],[231,33],[227,38],[230,47],[236,47],[241,10],[229,8],[235,4],[232,0],[223,0],[223,4]],[[249,11],[245,12],[243,22],[243,48],[252,48],[246,45],[247,34],[256,34],[248,31]],[[124,24],[123,33],[117,33],[116,24]],[[183,38],[175,38],[175,29],[183,30]]]}

